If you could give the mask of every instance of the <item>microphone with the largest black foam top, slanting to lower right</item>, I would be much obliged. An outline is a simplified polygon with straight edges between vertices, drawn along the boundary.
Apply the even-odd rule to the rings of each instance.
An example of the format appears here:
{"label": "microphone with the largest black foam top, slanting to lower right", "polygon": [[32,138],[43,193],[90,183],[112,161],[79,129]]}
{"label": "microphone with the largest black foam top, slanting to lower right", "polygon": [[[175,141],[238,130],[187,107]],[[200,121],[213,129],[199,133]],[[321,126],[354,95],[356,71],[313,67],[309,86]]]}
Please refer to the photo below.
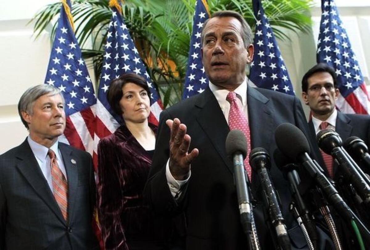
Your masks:
{"label": "microphone with the largest black foam top, slanting to lower right", "polygon": [[[350,207],[344,202],[338,191],[332,183],[326,178],[316,161],[309,156],[310,146],[306,136],[296,126],[290,123],[283,123],[277,126],[275,130],[275,141],[277,148],[292,161],[302,163],[302,166],[307,170],[309,175],[315,180],[317,186],[323,191],[327,200],[332,203],[334,209],[343,217],[352,227],[354,221],[360,229],[361,235],[365,236],[367,241],[370,241],[370,232],[364,224],[352,212]],[[294,145],[291,147],[290,145]]]}

